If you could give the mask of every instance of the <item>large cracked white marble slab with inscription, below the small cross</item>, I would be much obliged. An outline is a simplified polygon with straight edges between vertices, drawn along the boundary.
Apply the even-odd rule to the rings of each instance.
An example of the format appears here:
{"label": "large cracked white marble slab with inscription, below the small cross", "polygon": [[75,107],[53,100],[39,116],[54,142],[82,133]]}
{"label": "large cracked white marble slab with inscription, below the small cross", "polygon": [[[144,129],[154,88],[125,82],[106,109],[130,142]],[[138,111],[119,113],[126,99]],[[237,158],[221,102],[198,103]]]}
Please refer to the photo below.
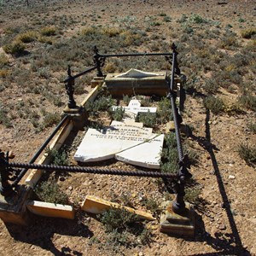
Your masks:
{"label": "large cracked white marble slab with inscription, below the small cross", "polygon": [[152,133],[142,123],[113,121],[102,130],[89,129],[74,155],[80,162],[116,158],[126,163],[153,169],[160,168],[164,135]]}

